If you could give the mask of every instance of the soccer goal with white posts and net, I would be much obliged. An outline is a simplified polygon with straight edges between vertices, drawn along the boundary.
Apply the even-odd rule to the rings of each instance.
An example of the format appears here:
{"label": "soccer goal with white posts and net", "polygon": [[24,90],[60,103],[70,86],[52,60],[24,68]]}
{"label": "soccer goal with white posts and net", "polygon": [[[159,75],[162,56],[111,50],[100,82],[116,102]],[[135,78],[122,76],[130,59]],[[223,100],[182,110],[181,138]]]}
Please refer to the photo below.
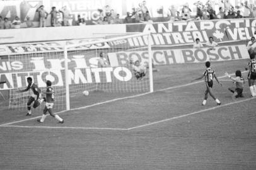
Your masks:
{"label": "soccer goal with white posts and net", "polygon": [[[42,91],[46,80],[52,81],[54,108],[57,110],[70,110],[76,98],[83,98],[83,91],[89,92],[86,98],[95,92],[102,92],[102,95],[153,92],[149,33],[65,47],[26,48],[26,52],[8,56],[10,64],[20,66],[20,69],[6,74],[3,81],[8,81],[8,84],[1,86],[1,90],[9,90],[9,108],[26,107],[30,92],[17,93],[18,89],[26,88],[26,77],[32,77]],[[138,74],[139,69],[144,73]]]}

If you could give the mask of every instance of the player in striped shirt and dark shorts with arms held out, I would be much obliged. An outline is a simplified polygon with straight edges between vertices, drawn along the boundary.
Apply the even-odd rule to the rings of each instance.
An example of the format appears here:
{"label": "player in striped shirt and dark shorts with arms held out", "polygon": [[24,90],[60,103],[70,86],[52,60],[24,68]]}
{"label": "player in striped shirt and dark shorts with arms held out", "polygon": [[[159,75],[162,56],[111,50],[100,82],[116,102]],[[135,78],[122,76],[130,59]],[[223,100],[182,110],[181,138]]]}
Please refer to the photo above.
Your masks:
{"label": "player in striped shirt and dark shorts with arms held out", "polygon": [[206,62],[206,70],[204,71],[202,76],[192,80],[192,82],[195,81],[195,80],[202,79],[203,77],[205,79],[205,82],[206,82],[206,92],[204,93],[204,100],[202,101],[202,105],[206,105],[206,101],[207,101],[207,98],[208,98],[208,93],[216,101],[217,105],[221,105],[221,102],[219,101],[219,99],[216,98],[214,96],[214,94],[212,93],[212,86],[213,86],[213,79],[214,79],[214,77],[215,77],[216,81],[218,82],[218,84],[220,84],[221,86],[222,86],[222,84],[221,84],[221,82],[219,82],[218,78],[215,75],[214,70],[210,66],[211,66],[211,63],[209,61],[207,61]]}

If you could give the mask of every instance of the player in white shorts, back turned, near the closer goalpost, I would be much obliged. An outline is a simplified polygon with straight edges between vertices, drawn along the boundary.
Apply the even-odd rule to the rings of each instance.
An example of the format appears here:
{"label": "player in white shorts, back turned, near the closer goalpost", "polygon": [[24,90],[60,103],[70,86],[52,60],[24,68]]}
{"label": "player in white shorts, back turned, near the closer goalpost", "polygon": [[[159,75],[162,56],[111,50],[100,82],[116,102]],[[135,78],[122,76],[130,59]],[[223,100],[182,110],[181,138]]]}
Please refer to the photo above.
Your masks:
{"label": "player in white shorts, back turned, near the closer goalpost", "polygon": [[46,94],[46,97],[44,98],[45,102],[46,102],[45,108],[44,108],[43,115],[42,115],[41,119],[38,119],[37,122],[43,123],[46,118],[47,111],[48,111],[51,116],[53,116],[55,119],[59,120],[59,123],[64,123],[64,120],[59,115],[55,115],[52,111],[52,108],[54,106],[54,89],[52,89],[52,82],[46,81],[46,86],[47,86],[47,89],[45,92],[43,92],[44,94]]}

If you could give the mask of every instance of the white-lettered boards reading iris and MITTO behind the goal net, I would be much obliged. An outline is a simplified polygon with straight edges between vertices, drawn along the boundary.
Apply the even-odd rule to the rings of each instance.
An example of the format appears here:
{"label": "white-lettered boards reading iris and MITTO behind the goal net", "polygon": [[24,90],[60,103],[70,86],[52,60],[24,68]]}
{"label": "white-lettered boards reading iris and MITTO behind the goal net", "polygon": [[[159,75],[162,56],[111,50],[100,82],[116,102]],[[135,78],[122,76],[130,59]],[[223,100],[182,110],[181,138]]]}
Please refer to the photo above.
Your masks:
{"label": "white-lettered boards reading iris and MITTO behind the goal net", "polygon": [[[25,58],[25,57],[24,57]],[[98,67],[99,57],[85,59],[84,55],[69,56],[69,84],[90,84],[100,82],[127,82],[132,79],[129,67]],[[32,57],[29,60],[0,60],[0,90],[24,88],[26,78],[32,77],[39,87],[45,87],[46,80],[53,86],[64,86],[64,60],[54,57]]]}

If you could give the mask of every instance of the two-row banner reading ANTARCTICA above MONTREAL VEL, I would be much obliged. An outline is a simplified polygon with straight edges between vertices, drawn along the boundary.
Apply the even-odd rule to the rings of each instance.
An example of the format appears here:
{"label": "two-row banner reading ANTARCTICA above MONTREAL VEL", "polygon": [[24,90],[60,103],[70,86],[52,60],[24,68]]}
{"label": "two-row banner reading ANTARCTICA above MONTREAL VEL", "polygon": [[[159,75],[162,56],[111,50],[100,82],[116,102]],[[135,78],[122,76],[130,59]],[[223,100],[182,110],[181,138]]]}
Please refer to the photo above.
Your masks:
{"label": "two-row banner reading ANTARCTICA above MONTREAL VEL", "polygon": [[[182,21],[172,23],[143,23],[126,25],[127,33],[151,32],[153,45],[180,45],[194,43],[195,38],[207,42],[213,37],[216,42],[248,40],[255,34],[255,19]],[[138,42],[138,43],[137,43]],[[139,47],[140,43],[129,42],[131,47]]]}

